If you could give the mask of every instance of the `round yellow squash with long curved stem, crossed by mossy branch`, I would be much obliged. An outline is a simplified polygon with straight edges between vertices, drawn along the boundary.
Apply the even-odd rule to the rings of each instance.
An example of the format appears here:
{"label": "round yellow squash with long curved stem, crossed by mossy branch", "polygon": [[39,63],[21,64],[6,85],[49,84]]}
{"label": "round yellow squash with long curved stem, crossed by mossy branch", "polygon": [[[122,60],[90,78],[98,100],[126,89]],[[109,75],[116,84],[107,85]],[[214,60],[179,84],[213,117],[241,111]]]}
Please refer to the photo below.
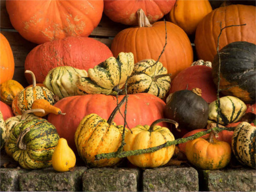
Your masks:
{"label": "round yellow squash with long curved stem, crossed by mossy branch", "polygon": [[[159,146],[167,141],[174,141],[173,134],[167,127],[156,125],[161,121],[171,122],[178,126],[178,123],[169,119],[159,119],[154,121],[150,126],[137,125],[131,131],[125,134],[123,147],[124,151],[141,150]],[[165,165],[170,158],[173,157],[175,145],[164,147],[154,153],[141,154],[136,156],[128,156],[127,159],[138,167],[158,167]]]}

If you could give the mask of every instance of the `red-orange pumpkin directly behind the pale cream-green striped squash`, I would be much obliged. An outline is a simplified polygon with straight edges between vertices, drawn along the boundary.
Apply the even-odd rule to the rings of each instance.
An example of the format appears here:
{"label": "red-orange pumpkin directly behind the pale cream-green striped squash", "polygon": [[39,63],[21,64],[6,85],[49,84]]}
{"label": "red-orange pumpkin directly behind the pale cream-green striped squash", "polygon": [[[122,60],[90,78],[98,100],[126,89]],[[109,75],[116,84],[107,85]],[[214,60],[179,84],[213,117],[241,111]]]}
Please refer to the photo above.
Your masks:
{"label": "red-orange pumpkin directly behind the pale cream-green striped squash", "polygon": [[[47,74],[59,66],[71,66],[88,71],[113,56],[102,42],[90,37],[66,37],[46,42],[32,49],[25,60],[25,70],[35,73],[38,83],[44,82]],[[25,75],[31,84],[30,75]]]}

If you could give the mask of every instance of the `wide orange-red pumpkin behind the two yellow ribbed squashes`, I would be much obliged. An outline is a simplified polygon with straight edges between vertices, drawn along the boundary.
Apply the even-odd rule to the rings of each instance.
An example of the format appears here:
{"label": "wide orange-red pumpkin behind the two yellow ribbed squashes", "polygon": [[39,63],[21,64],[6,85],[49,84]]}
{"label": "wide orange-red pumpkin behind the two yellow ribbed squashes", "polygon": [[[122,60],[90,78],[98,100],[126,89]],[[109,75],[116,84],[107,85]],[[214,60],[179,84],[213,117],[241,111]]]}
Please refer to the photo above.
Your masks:
{"label": "wide orange-red pumpkin behind the two yellow ribbed squashes", "polygon": [[[118,100],[120,101],[123,97],[119,96]],[[56,127],[59,136],[65,138],[75,152],[74,135],[82,118],[94,113],[103,119],[108,119],[116,104],[116,97],[112,95],[88,94],[65,97],[54,106],[59,108],[62,113],[66,113],[66,115],[49,114],[48,121]],[[163,100],[149,93],[129,95],[126,122],[131,128],[138,124],[151,124],[156,119],[164,118],[164,106],[165,102]],[[124,108],[124,106],[120,108],[122,114]],[[123,117],[117,114],[114,122],[117,125],[123,125]],[[161,125],[168,127],[167,124]]]}

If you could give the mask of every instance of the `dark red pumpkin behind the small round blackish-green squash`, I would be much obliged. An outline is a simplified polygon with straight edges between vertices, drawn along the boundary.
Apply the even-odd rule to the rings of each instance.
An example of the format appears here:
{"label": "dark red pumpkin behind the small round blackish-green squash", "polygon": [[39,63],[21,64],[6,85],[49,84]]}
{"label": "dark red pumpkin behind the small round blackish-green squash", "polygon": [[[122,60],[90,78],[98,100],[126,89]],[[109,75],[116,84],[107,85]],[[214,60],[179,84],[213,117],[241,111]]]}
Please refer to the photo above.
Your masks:
{"label": "dark red pumpkin behind the small round blackish-green squash", "polygon": [[169,93],[180,90],[202,90],[202,98],[210,103],[217,99],[217,89],[211,77],[212,69],[206,66],[191,66],[184,69],[170,83]]}

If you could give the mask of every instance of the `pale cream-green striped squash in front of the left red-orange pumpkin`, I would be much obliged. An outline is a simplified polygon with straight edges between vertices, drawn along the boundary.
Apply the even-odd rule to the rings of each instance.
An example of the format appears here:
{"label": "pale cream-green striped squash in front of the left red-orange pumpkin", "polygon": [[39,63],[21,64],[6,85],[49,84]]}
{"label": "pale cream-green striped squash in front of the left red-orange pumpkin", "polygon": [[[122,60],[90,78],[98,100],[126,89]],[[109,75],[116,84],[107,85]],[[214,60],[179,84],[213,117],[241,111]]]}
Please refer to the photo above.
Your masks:
{"label": "pale cream-green striped squash in front of the left red-orange pumpkin", "polygon": [[87,71],[70,66],[56,67],[49,71],[44,84],[59,99],[62,99],[64,97],[78,95],[76,82],[79,76],[88,77]]}

